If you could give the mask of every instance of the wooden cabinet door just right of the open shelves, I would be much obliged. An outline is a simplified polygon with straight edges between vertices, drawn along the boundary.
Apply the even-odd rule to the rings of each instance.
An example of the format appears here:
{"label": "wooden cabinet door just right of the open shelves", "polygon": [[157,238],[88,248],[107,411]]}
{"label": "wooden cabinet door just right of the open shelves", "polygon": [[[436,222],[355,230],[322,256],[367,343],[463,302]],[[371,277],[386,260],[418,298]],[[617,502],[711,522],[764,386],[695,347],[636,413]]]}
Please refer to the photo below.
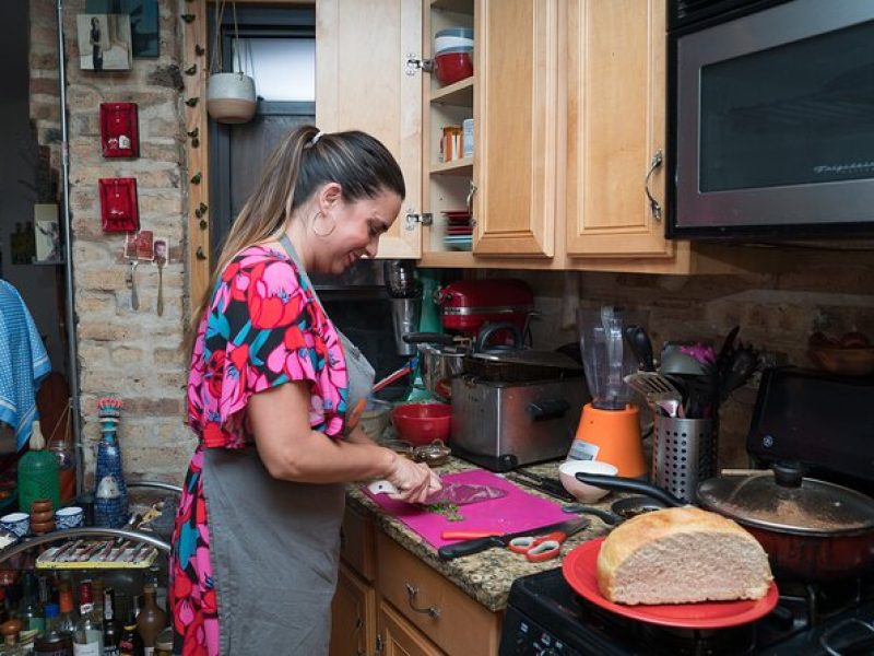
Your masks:
{"label": "wooden cabinet door just right of the open shelves", "polygon": [[476,255],[555,255],[558,7],[476,3]]}

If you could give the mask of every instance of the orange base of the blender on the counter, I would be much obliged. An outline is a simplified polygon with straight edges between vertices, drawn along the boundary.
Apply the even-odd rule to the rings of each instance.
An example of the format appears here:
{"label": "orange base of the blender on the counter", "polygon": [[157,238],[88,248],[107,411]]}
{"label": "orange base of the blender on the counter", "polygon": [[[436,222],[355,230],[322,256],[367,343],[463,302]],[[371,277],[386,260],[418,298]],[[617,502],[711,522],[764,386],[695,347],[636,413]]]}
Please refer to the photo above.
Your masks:
{"label": "orange base of the blender on the counter", "polygon": [[637,407],[602,410],[586,403],[571,446],[571,453],[575,450],[614,465],[618,469],[618,476],[646,476],[647,462],[643,458]]}

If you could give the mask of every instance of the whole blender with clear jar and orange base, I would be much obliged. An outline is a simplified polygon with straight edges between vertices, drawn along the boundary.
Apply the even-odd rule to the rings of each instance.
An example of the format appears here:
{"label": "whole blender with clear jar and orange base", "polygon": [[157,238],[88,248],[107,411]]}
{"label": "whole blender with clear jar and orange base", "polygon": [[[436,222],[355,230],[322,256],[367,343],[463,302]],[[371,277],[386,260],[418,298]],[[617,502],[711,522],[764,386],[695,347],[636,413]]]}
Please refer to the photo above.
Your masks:
{"label": "whole blender with clear jar and orange base", "polygon": [[639,411],[623,379],[637,371],[637,359],[623,341],[628,313],[613,305],[577,311],[580,352],[591,402],[582,408],[568,458],[600,460],[622,477],[646,477]]}

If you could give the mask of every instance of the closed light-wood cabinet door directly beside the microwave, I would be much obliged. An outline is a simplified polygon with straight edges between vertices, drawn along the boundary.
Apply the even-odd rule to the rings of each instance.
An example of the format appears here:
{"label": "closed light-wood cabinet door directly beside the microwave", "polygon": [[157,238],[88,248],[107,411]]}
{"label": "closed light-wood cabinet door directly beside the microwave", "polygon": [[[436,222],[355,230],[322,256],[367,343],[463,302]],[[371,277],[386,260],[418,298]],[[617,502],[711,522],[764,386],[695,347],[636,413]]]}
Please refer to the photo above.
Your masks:
{"label": "closed light-wood cabinet door directly beside the microwave", "polygon": [[567,254],[673,257],[645,188],[665,150],[665,0],[569,0],[567,26]]}

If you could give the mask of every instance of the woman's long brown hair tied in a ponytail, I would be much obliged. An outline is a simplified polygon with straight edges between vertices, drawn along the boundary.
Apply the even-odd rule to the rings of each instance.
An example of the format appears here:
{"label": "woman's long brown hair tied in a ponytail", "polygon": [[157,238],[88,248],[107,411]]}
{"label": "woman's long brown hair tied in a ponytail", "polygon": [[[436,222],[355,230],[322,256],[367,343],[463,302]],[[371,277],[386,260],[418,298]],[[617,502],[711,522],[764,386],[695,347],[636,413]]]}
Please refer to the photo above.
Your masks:
{"label": "woman's long brown hair tied in a ponytail", "polygon": [[247,246],[275,238],[294,211],[327,183],[340,185],[344,202],[374,198],[385,189],[406,196],[401,167],[378,139],[357,130],[323,133],[314,126],[290,131],[231,225],[210,285],[192,313],[192,338],[225,266]]}

